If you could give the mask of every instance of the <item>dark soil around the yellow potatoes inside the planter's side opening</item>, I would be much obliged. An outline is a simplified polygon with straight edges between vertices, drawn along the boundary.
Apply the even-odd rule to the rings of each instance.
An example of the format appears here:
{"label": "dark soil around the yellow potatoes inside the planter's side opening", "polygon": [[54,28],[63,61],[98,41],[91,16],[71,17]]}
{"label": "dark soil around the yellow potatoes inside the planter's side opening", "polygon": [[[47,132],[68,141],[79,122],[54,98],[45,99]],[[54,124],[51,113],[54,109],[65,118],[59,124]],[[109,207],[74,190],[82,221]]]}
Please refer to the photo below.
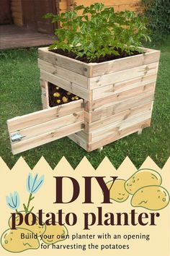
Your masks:
{"label": "dark soil around the yellow potatoes inside the planter's side opening", "polygon": [[[70,95],[67,95],[67,93],[69,93],[67,90],[64,90],[63,88],[59,88],[57,85],[53,85],[52,83],[48,82],[48,97],[49,97],[49,106],[50,107],[54,107],[54,106],[59,106],[59,105],[63,105],[72,101],[77,101],[79,99],[81,99],[80,97],[72,100],[72,98],[75,98],[76,95],[74,95],[73,93],[71,93]],[[54,93],[60,93],[60,97],[56,98],[53,94]],[[63,102],[63,97],[68,99],[68,102]],[[77,97],[77,96],[76,96]],[[61,103],[57,103],[57,100],[61,100]]]}

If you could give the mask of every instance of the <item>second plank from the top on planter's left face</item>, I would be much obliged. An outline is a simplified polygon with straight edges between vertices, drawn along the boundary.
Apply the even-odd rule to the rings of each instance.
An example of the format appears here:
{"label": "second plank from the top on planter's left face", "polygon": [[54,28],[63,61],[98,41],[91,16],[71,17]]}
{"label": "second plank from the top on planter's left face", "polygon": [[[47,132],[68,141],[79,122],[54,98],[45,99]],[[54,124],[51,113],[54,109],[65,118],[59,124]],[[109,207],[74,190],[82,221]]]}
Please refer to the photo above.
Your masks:
{"label": "second plank from the top on planter's left face", "polygon": [[38,59],[38,67],[50,74],[57,75],[69,82],[76,83],[80,87],[88,88],[88,78],[81,74],[77,74],[68,69],[63,69],[62,67],[58,67],[48,61],[43,61],[42,59]]}

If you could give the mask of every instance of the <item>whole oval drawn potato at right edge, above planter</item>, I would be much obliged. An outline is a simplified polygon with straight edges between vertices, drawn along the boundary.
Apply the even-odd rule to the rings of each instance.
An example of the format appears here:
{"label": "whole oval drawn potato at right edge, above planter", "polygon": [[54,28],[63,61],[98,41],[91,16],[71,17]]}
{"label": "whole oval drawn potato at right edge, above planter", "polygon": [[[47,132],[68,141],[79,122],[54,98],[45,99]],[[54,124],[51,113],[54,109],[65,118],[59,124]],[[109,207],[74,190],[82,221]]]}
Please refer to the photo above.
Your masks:
{"label": "whole oval drawn potato at right edge, above planter", "polygon": [[132,197],[131,205],[148,210],[161,210],[169,204],[169,192],[161,186],[147,186],[138,189]]}

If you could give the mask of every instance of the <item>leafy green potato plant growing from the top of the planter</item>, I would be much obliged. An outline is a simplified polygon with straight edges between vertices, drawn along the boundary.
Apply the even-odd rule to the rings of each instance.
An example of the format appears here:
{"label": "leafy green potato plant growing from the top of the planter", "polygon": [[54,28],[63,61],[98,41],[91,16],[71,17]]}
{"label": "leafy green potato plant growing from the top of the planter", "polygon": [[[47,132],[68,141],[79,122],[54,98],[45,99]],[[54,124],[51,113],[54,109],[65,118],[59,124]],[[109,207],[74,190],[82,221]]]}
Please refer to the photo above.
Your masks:
{"label": "leafy green potato plant growing from the top of the planter", "polygon": [[58,15],[46,14],[45,18],[62,24],[55,30],[58,40],[50,49],[61,48],[76,54],[76,58],[87,56],[90,61],[119,52],[130,55],[141,46],[141,40],[150,39],[144,18],[135,12],[114,12],[114,8],[104,8],[100,3],[77,6]]}

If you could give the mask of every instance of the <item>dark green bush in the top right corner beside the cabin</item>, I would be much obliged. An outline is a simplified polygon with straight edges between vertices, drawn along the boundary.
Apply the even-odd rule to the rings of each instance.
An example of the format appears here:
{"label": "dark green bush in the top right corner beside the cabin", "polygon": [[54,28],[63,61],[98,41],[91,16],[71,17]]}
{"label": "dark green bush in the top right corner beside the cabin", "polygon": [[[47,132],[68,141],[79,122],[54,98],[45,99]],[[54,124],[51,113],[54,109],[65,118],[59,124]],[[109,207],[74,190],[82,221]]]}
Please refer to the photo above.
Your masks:
{"label": "dark green bush in the top right corner beside the cabin", "polygon": [[148,19],[148,28],[153,34],[170,33],[170,1],[142,0],[144,15]]}

